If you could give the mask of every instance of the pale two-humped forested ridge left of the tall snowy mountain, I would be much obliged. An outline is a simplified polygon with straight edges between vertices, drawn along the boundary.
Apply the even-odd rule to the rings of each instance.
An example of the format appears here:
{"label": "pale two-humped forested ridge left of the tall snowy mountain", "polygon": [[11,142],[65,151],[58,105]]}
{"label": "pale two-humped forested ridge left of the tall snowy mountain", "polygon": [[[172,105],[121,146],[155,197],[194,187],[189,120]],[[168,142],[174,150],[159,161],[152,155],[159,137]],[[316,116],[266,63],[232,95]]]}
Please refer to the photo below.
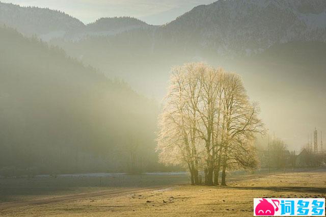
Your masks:
{"label": "pale two-humped forested ridge left of the tall snowy mountain", "polygon": [[20,7],[0,2],[0,24],[44,41],[53,38],[80,40],[89,36],[110,36],[135,29],[149,28],[147,23],[132,17],[100,18],[85,25],[64,12],[38,7]]}

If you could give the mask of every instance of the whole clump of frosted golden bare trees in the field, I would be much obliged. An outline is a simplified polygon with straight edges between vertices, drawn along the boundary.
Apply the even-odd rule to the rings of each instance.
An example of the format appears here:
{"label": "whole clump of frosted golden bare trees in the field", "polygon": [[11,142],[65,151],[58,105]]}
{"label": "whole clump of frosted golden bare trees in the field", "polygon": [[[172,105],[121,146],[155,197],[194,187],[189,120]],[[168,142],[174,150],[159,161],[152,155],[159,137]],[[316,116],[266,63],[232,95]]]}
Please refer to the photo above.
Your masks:
{"label": "whole clump of frosted golden bare trees in the field", "polygon": [[159,116],[157,151],[161,162],[183,165],[191,183],[226,185],[227,170],[254,169],[253,141],[263,133],[259,108],[249,101],[241,78],[204,63],[173,69],[164,111]]}

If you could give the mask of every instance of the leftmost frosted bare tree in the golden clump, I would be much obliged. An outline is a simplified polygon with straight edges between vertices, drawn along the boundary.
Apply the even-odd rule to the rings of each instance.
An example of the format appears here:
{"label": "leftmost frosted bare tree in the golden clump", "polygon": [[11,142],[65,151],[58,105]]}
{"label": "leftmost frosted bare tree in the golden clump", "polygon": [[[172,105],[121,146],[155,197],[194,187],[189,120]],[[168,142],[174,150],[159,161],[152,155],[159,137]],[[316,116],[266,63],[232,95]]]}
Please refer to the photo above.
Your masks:
{"label": "leftmost frosted bare tree in the golden clump", "polygon": [[[192,111],[188,99],[192,85],[185,67],[175,67],[171,75],[171,86],[166,96],[164,112],[159,119],[158,146],[161,162],[184,164],[191,173],[192,184],[198,184],[198,155],[196,112]],[[190,89],[190,90],[189,90]],[[197,143],[196,143],[197,142]]]}

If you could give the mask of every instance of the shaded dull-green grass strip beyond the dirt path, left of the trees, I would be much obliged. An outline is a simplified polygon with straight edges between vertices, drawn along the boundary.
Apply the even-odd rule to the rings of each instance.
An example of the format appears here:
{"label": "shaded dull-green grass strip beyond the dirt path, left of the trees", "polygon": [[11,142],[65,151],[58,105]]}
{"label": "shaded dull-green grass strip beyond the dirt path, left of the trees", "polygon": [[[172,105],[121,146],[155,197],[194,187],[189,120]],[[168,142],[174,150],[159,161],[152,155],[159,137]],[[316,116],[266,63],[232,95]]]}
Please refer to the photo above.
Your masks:
{"label": "shaded dull-green grass strip beyond the dirt path, left of the trees", "polygon": [[153,187],[184,184],[186,173],[140,175],[73,174],[34,178],[0,178],[0,203],[30,201],[63,195],[109,191],[117,188]]}

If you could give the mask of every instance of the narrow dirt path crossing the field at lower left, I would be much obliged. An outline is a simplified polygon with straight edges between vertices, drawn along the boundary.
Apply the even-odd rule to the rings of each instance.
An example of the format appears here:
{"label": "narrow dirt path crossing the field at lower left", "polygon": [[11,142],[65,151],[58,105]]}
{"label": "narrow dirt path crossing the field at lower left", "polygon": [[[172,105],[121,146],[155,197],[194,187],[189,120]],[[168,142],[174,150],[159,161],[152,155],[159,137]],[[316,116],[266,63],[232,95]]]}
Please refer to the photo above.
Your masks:
{"label": "narrow dirt path crossing the field at lower left", "polygon": [[87,194],[77,194],[77,195],[66,195],[60,197],[53,197],[53,198],[43,198],[31,201],[24,201],[24,202],[9,202],[9,203],[0,203],[0,209],[5,208],[12,208],[12,207],[19,207],[19,206],[28,206],[28,205],[40,205],[40,204],[47,204],[47,203],[57,203],[66,200],[75,200],[75,199],[82,199],[82,198],[90,198],[90,197],[98,197],[104,195],[119,195],[125,193],[134,193],[140,191],[150,191],[155,189],[160,189],[160,187],[152,187],[152,188],[118,188],[110,191],[103,191],[103,192],[94,192],[94,193],[87,193]]}

